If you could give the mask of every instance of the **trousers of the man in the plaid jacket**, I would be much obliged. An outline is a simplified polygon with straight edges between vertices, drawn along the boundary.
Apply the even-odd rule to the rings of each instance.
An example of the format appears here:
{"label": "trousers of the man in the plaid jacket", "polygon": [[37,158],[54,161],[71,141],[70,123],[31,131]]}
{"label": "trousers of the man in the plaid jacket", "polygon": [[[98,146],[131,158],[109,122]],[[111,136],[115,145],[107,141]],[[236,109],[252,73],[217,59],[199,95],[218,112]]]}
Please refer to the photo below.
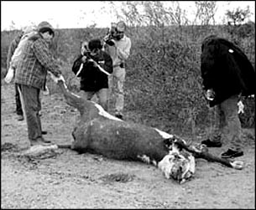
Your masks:
{"label": "trousers of the man in the plaid jacket", "polygon": [[42,136],[42,126],[39,116],[39,110],[41,110],[40,90],[28,85],[18,85],[18,88],[21,92],[21,100],[24,101],[29,140],[33,141]]}

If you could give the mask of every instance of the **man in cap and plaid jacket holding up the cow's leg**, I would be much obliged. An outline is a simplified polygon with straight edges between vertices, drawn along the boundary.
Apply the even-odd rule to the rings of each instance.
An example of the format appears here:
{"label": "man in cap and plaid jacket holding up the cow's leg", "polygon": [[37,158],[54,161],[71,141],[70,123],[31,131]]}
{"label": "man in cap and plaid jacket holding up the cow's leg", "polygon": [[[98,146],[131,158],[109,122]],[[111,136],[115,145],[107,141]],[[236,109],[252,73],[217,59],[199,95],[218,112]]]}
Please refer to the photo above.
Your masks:
{"label": "man in cap and plaid jacket holding up the cow's leg", "polygon": [[18,90],[24,105],[24,112],[28,125],[30,145],[50,143],[42,136],[39,110],[41,102],[40,90],[45,90],[47,71],[59,77],[60,67],[50,53],[50,42],[54,38],[55,31],[50,23],[39,23],[38,33],[34,34],[24,44],[23,53],[15,69],[14,82],[18,84]]}

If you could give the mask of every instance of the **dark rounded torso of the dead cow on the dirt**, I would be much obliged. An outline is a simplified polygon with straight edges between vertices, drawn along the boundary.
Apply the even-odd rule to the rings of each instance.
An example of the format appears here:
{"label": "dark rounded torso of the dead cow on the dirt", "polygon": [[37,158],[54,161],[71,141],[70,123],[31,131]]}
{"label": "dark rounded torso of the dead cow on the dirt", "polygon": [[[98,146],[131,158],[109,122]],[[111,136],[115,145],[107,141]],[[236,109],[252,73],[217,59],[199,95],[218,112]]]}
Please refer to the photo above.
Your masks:
{"label": "dark rounded torso of the dead cow on the dirt", "polygon": [[[73,149],[92,151],[114,159],[160,161],[168,149],[152,127],[118,120],[95,119],[76,129]],[[79,131],[81,130],[81,131]],[[81,135],[81,133],[83,135]]]}

